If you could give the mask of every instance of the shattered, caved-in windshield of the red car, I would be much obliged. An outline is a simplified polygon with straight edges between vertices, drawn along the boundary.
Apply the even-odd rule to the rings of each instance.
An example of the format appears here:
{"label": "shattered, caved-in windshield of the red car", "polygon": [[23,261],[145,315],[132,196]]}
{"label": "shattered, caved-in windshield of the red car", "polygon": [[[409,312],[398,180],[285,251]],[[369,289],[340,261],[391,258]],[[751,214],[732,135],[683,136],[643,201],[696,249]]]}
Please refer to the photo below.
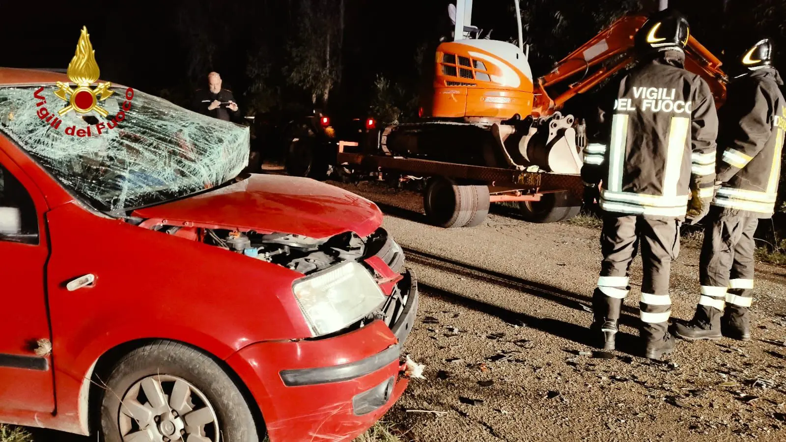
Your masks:
{"label": "shattered, caved-in windshield of the red car", "polygon": [[[53,85],[0,88],[0,131],[68,190],[105,212],[210,189],[248,164],[247,127],[138,90],[111,90],[97,101],[100,108],[79,114],[63,111],[71,106]],[[72,103],[90,104],[90,94],[84,95]]]}

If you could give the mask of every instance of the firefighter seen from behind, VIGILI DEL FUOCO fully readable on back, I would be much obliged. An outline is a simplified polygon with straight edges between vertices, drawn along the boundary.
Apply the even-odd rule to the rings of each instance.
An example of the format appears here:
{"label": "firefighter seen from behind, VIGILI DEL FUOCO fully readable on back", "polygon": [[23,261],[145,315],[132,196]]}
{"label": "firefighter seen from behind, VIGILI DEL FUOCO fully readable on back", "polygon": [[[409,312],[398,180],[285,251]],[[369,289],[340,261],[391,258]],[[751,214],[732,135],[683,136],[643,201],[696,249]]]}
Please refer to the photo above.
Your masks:
{"label": "firefighter seen from behind, VIGILI DEL FUOCO fully readable on back", "polygon": [[587,146],[582,168],[604,224],[591,330],[605,349],[615,348],[628,269],[641,244],[641,340],[651,359],[674,350],[670,263],[681,221],[686,213],[692,222],[707,214],[714,183],[718,116],[707,83],[685,70],[688,38],[688,21],[669,9],[637,32],[640,64],[601,104],[602,142]]}

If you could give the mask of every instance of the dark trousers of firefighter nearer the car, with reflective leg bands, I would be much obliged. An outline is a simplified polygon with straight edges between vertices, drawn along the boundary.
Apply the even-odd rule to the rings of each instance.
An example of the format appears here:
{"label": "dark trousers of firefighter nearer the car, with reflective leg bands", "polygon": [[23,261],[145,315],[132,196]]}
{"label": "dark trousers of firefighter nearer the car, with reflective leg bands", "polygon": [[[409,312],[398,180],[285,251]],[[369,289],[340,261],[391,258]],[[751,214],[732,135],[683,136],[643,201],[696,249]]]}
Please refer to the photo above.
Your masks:
{"label": "dark trousers of firefighter nearer the car, with reflective leg bands", "polygon": [[671,260],[679,253],[677,219],[647,219],[641,215],[604,215],[601,232],[601,275],[593,294],[596,320],[619,319],[630,292],[630,263],[641,244],[644,278],[641,281],[641,334],[662,339],[671,313]]}

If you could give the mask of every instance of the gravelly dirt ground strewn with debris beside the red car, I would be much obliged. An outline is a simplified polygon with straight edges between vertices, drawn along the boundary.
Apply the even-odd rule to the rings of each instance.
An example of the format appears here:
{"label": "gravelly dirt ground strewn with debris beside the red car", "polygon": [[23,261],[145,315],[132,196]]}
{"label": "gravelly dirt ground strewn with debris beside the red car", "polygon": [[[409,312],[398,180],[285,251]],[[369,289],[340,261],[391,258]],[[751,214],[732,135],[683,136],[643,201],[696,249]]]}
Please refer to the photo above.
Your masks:
{"label": "gravelly dirt ground strewn with debris beside the red car", "polygon": [[[445,230],[424,223],[417,193],[340,186],[379,204],[384,227],[421,252],[408,258],[422,297],[406,352],[427,379],[384,418],[402,440],[786,440],[786,269],[757,267],[754,341],[678,341],[652,362],[637,355],[636,260],[620,349],[597,352],[597,230],[499,214]],[[683,248],[672,264],[673,318],[692,317],[698,261]]]}

